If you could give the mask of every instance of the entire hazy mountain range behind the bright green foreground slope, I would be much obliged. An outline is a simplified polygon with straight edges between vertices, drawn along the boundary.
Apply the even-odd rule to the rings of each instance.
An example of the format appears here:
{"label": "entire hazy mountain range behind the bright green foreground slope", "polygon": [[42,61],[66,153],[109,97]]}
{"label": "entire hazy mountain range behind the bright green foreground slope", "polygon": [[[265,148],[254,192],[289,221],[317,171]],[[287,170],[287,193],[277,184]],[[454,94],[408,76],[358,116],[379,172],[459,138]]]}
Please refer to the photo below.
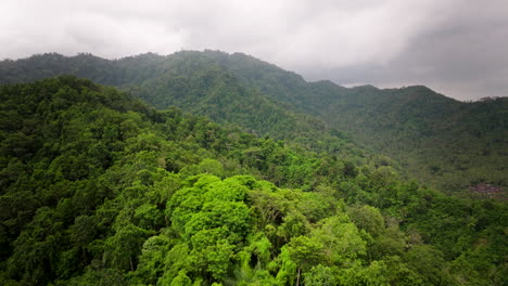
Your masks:
{"label": "entire hazy mountain range behind the bright green foreground slope", "polygon": [[443,192],[463,194],[479,183],[506,191],[508,185],[508,99],[466,103],[426,87],[307,82],[255,57],[216,51],[114,61],[46,54],[0,63],[0,82],[61,74],[130,90],[157,108],[175,105],[256,134],[299,139],[314,150],[359,153],[352,152],[348,138],[397,162],[380,164],[397,165]]}

